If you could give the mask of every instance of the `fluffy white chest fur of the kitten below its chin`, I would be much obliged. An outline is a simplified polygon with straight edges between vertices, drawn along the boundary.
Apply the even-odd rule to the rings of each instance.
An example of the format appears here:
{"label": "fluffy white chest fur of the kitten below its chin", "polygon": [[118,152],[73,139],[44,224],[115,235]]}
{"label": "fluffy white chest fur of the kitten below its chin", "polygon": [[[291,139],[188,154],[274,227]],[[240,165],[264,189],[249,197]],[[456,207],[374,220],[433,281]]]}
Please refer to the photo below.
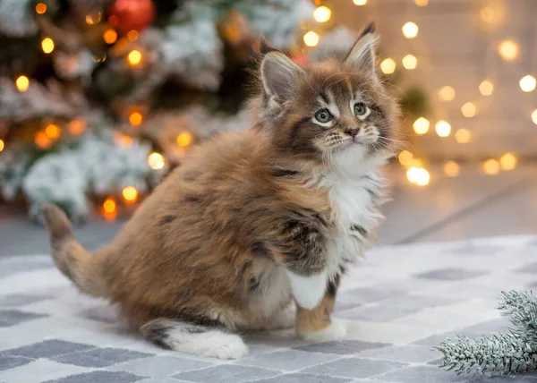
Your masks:
{"label": "fluffy white chest fur of the kitten below its chin", "polygon": [[362,254],[382,215],[382,178],[371,172],[356,178],[327,183],[332,230],[328,238],[328,274],[341,273],[345,264]]}

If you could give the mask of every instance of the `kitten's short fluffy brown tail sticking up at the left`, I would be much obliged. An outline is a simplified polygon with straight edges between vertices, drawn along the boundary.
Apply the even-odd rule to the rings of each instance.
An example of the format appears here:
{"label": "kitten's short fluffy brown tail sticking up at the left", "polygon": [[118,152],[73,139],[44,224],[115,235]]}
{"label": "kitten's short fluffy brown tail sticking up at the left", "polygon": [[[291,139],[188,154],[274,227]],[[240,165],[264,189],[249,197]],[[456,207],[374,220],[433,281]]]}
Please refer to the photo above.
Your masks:
{"label": "kitten's short fluffy brown tail sticking up at the left", "polygon": [[78,243],[64,211],[55,205],[46,204],[43,207],[43,217],[50,234],[50,248],[56,267],[82,293],[106,296],[102,257],[92,255]]}

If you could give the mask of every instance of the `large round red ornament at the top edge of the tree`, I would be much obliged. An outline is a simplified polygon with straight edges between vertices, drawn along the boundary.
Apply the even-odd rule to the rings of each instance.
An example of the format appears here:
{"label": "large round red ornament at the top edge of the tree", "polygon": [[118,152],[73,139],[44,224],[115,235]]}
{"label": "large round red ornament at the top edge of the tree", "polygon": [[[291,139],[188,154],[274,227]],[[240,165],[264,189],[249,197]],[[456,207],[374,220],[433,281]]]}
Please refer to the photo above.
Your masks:
{"label": "large round red ornament at the top edge of the tree", "polygon": [[108,10],[108,22],[121,34],[143,30],[155,20],[155,5],[151,0],[115,0]]}

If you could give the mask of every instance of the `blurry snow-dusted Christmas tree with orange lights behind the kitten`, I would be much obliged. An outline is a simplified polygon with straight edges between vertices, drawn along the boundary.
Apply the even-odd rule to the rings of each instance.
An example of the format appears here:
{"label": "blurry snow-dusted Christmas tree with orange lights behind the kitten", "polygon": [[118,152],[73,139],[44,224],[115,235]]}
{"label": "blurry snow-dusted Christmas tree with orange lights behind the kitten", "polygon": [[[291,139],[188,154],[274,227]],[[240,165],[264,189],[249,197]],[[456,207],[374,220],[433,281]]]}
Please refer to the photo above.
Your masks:
{"label": "blurry snow-dusted Christmas tree with orange lights behind the kitten", "polygon": [[0,0],[0,200],[35,220],[44,202],[74,221],[129,211],[192,145],[251,126],[261,35],[299,64],[352,46],[319,3]]}

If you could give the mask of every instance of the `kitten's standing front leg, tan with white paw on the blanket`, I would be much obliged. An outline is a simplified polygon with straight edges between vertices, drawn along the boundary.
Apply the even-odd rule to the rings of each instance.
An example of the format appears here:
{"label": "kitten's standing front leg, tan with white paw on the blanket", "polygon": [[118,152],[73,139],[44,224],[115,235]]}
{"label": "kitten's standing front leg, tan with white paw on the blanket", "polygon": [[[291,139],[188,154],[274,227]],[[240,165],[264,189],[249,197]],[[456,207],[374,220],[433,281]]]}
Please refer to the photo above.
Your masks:
{"label": "kitten's standing front leg, tan with white paw on the blanket", "polygon": [[320,303],[313,309],[305,309],[297,303],[296,305],[296,334],[306,340],[330,341],[345,338],[345,325],[332,319],[336,302],[337,286],[339,278],[328,282],[326,293]]}

